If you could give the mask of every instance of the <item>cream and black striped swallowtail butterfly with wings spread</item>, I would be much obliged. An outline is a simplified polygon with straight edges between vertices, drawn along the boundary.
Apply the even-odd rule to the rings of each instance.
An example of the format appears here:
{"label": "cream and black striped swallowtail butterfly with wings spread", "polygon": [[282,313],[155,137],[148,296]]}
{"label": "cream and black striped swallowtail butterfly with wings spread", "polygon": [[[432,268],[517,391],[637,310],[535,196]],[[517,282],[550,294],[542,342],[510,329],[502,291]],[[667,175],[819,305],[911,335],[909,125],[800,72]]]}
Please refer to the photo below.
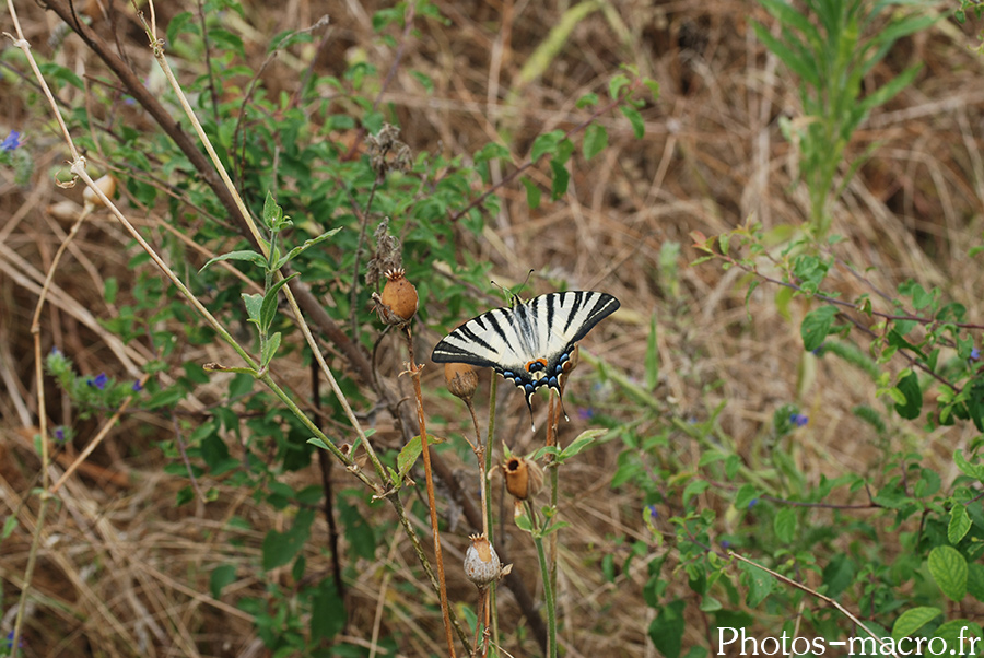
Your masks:
{"label": "cream and black striped swallowtail butterfly with wings spread", "polygon": [[541,386],[560,397],[560,376],[574,343],[619,307],[607,293],[549,293],[529,302],[495,308],[472,318],[434,346],[437,363],[469,363],[491,367],[526,396],[532,416],[532,396]]}

